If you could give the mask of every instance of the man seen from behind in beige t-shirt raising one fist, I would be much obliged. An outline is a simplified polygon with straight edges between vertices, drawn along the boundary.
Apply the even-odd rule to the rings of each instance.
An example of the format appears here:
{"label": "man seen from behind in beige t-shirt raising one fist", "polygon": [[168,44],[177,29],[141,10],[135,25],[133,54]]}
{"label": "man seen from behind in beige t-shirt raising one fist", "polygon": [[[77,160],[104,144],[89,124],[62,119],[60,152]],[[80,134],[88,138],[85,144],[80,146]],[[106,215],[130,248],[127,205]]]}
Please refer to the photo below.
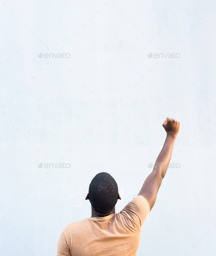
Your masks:
{"label": "man seen from behind in beige t-shirt raising one fist", "polygon": [[121,199],[116,181],[108,173],[98,173],[86,196],[92,206],[92,216],[64,228],[57,244],[57,256],[137,255],[142,226],[166,174],[179,122],[167,118],[163,127],[167,132],[164,146],[139,194],[121,212],[115,213],[116,202]]}

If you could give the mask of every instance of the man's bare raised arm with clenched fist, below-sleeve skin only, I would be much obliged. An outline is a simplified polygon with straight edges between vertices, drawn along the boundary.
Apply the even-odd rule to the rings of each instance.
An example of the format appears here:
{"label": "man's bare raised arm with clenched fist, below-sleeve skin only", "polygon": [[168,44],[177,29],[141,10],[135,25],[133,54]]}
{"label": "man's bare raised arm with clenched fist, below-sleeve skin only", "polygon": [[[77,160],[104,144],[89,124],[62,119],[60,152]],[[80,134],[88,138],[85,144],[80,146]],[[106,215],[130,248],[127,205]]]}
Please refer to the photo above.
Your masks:
{"label": "man's bare raised arm with clenched fist, below-sleeve skin only", "polygon": [[161,182],[167,172],[167,168],[170,163],[172,149],[179,131],[179,122],[175,119],[167,118],[163,123],[163,127],[167,132],[166,140],[154,164],[152,173],[150,173],[149,176],[146,178],[138,194],[146,198],[149,203],[150,210],[154,206],[157,192],[160,188]]}

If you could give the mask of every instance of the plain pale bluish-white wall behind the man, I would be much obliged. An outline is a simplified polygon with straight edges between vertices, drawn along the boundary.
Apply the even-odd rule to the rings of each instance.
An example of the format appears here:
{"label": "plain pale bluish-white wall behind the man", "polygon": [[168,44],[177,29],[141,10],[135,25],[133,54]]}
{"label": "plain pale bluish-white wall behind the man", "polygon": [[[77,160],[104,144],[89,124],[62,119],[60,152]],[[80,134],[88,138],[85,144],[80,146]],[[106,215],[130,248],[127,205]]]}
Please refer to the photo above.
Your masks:
{"label": "plain pale bluish-white wall behind the man", "polygon": [[63,228],[90,217],[99,172],[118,183],[119,212],[169,116],[180,167],[167,170],[138,256],[215,255],[215,1],[3,0],[0,17],[1,254],[56,255]]}

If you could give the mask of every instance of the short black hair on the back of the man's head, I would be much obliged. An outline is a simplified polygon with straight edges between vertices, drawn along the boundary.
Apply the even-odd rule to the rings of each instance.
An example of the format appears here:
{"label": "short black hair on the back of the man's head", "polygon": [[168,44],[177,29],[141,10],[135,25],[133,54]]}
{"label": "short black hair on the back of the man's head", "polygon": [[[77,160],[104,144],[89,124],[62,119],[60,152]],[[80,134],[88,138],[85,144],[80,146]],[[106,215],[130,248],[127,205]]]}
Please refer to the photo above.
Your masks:
{"label": "short black hair on the back of the man's head", "polygon": [[118,185],[106,172],[98,173],[89,185],[89,200],[98,213],[111,212],[118,201]]}

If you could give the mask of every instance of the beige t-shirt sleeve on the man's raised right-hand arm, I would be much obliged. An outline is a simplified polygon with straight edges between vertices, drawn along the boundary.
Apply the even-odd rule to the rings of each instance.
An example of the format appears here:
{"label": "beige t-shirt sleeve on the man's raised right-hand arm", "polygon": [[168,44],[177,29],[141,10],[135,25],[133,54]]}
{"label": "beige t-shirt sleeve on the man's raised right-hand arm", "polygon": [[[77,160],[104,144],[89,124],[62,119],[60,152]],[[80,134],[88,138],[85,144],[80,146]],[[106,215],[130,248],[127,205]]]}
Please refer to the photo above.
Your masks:
{"label": "beige t-shirt sleeve on the man's raised right-hand arm", "polygon": [[142,229],[149,212],[149,203],[142,195],[133,198],[121,211],[133,223],[136,223],[140,229]]}

